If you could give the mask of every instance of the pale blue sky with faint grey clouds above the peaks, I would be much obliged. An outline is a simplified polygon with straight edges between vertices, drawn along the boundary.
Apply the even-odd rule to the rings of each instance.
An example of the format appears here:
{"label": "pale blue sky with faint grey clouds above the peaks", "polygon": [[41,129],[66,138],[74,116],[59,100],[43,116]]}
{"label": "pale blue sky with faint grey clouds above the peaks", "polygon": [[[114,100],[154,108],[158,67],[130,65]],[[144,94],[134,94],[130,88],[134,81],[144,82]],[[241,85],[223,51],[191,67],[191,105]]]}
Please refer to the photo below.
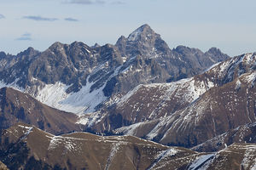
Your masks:
{"label": "pale blue sky with faint grey clouds above the peaks", "polygon": [[255,0],[0,0],[0,51],[53,42],[114,44],[148,24],[170,48],[256,51]]}

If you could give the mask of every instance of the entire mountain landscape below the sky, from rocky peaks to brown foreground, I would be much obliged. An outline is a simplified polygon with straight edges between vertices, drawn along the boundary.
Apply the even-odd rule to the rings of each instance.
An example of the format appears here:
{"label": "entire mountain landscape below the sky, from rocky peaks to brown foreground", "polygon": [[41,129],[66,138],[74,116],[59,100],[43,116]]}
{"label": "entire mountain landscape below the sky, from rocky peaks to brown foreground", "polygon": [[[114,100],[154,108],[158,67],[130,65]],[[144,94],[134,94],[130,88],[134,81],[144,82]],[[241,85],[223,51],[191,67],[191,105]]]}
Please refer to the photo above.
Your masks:
{"label": "entire mountain landscape below the sky, from rocky peaks to brown foreground", "polygon": [[115,45],[0,52],[0,169],[256,169],[256,53]]}

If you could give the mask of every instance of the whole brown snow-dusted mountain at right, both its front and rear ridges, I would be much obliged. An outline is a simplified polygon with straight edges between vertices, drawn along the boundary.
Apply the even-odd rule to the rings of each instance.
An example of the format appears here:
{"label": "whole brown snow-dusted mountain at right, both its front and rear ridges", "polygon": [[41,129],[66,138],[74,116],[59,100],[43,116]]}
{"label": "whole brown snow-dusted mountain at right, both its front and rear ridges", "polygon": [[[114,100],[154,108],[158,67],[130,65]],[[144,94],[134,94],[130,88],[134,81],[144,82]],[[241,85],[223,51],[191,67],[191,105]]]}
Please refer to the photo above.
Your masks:
{"label": "whole brown snow-dusted mountain at right, both its front and rear ridges", "polygon": [[95,128],[162,144],[201,144],[256,122],[255,69],[256,54],[243,54],[193,78],[141,85],[119,99]]}

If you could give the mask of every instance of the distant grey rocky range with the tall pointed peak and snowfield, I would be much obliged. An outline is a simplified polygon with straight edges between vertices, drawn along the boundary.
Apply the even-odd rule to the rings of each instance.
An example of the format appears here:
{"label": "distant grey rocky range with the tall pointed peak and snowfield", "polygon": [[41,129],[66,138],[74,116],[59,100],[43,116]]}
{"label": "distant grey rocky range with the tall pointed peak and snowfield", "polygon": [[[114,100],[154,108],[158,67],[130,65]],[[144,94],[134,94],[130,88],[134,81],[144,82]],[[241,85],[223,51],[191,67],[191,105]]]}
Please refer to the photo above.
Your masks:
{"label": "distant grey rocky range with the tall pointed peak and snowfield", "polygon": [[115,45],[55,42],[44,52],[1,53],[0,88],[12,87],[61,111],[84,114],[107,107],[113,97],[139,84],[193,77],[228,58],[217,48],[206,53],[183,46],[170,49],[143,25]]}

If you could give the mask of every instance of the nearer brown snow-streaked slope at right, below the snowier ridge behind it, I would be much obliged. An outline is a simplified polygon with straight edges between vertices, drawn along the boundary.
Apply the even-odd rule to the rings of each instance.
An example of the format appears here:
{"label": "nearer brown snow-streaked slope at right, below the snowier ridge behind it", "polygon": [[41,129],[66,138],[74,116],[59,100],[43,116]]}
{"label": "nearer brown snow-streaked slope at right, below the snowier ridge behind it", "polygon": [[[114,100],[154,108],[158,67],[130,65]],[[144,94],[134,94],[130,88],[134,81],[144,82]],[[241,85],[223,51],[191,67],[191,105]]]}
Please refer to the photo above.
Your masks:
{"label": "nearer brown snow-streaked slope at right, below the snowier ridge behind it", "polygon": [[[189,146],[200,144],[230,128],[255,122],[256,91],[255,86],[251,86],[255,80],[255,76],[250,78],[253,77],[252,74],[245,74],[237,79],[241,82],[238,91],[235,80],[222,88],[212,88],[200,99],[171,116],[139,122],[130,127],[120,127],[117,133],[140,134],[140,137],[146,135],[146,138],[164,144]],[[253,81],[246,82],[249,79]],[[150,124],[154,126],[149,126]]]}

